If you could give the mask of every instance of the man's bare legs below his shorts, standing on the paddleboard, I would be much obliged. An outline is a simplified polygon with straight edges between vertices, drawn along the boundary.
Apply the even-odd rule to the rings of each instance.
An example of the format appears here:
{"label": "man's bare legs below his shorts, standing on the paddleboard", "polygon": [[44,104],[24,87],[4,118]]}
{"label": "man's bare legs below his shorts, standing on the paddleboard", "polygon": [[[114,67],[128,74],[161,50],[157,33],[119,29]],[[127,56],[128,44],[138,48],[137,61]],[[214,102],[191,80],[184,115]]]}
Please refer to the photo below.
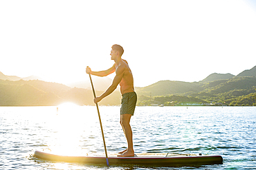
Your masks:
{"label": "man's bare legs below his shorts, standing on the paddleboard", "polygon": [[131,114],[122,114],[120,119],[121,119],[120,123],[122,125],[122,129],[127,139],[128,147],[125,151],[120,152],[122,154],[118,156],[121,156],[121,157],[134,156],[134,145],[132,142],[132,131],[131,131],[131,125],[130,125]]}

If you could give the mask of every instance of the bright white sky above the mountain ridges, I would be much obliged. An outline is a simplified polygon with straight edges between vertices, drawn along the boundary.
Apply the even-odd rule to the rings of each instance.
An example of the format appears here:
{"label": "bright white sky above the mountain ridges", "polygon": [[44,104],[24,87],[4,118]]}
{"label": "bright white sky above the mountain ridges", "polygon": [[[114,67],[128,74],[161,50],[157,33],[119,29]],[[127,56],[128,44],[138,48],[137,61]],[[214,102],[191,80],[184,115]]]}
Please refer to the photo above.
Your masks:
{"label": "bright white sky above the mountain ridges", "polygon": [[256,65],[253,0],[0,1],[0,24],[0,72],[10,76],[88,80],[86,65],[113,65],[116,43],[136,87]]}

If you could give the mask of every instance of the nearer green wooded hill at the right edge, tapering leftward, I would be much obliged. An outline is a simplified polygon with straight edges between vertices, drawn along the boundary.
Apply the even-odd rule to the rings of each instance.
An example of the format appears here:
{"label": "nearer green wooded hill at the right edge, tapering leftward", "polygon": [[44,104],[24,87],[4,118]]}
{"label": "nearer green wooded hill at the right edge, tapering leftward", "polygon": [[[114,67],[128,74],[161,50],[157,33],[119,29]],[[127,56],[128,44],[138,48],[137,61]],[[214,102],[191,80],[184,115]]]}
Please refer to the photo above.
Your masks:
{"label": "nearer green wooded hill at the right edge, tapering leftward", "polygon": [[[256,77],[235,77],[229,80],[213,81],[205,84],[204,90],[189,96],[201,98],[202,100],[227,105],[255,105],[256,99]],[[246,100],[245,98],[248,98]],[[250,98],[250,99],[249,99]]]}

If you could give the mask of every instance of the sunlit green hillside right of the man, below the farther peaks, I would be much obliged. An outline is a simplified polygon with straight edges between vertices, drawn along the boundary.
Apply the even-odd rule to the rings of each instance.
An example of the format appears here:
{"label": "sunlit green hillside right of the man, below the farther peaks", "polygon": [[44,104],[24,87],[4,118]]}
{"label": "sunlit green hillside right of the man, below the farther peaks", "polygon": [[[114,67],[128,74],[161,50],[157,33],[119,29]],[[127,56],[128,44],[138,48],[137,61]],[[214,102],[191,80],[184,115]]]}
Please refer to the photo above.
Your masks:
{"label": "sunlit green hillside right of the man, below the farther peaks", "polygon": [[[181,105],[181,103],[223,103],[223,105],[255,105],[256,77],[234,77],[207,83],[159,81],[136,89],[139,105]],[[163,95],[163,92],[167,92]],[[161,98],[161,102],[159,101]],[[169,103],[169,104],[168,104]]]}

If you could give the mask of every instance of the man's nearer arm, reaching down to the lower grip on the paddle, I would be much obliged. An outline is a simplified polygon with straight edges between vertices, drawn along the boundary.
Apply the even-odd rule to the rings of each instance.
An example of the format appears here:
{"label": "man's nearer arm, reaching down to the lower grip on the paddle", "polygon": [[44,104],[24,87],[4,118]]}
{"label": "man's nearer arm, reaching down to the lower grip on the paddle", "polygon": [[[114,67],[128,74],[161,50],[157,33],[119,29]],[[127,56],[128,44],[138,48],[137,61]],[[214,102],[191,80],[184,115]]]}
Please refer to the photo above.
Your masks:
{"label": "man's nearer arm, reaching down to the lower grip on the paddle", "polygon": [[115,78],[113,78],[112,84],[109,86],[106,92],[104,92],[99,97],[94,98],[94,103],[100,102],[100,100],[102,100],[104,97],[109,96],[109,94],[111,94],[116,89],[116,87],[118,87],[118,84],[120,83],[120,81],[122,81],[122,76],[124,75],[124,72],[125,67],[118,67],[118,69],[116,70],[116,76]]}

